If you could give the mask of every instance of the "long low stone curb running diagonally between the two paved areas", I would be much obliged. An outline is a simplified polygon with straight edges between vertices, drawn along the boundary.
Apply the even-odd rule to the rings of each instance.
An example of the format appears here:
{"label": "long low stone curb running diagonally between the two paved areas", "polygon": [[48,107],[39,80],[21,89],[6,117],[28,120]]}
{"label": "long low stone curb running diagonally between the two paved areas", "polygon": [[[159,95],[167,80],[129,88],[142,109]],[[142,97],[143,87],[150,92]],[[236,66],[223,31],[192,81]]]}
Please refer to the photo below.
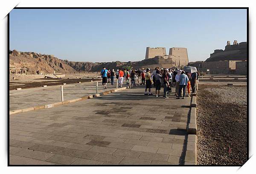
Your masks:
{"label": "long low stone curb running diagonally between the two paved areas", "polygon": [[118,88],[118,89],[115,89],[115,90],[108,90],[108,91],[105,91],[103,93],[97,93],[97,94],[94,94],[94,95],[83,96],[83,97],[77,98],[77,99],[65,100],[63,102],[57,102],[57,103],[45,104],[45,105],[38,105],[38,106],[28,107],[28,108],[18,109],[18,110],[10,110],[9,115],[13,115],[15,113],[28,112],[28,111],[32,111],[32,110],[47,109],[47,108],[56,107],[56,106],[60,106],[60,105],[63,105],[63,104],[68,104],[68,103],[73,103],[73,102],[78,102],[78,101],[86,100],[86,99],[93,99],[93,98],[98,97],[98,96],[103,96],[103,95],[105,96],[109,93],[114,93],[114,92],[117,92],[119,90],[125,90],[125,89],[127,89],[127,87],[121,87],[121,88]]}

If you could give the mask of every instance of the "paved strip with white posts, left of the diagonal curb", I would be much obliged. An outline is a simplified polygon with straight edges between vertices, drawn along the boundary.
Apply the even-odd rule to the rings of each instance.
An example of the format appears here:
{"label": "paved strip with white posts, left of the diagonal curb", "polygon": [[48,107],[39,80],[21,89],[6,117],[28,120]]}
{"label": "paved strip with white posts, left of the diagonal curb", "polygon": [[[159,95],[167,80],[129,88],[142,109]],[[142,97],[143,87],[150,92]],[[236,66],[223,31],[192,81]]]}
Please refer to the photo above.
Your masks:
{"label": "paved strip with white posts, left of the diagonal curb", "polygon": [[[123,84],[125,87],[126,84]],[[116,89],[116,81],[114,85],[108,84],[107,90]],[[61,85],[49,87],[37,87],[22,90],[10,91],[10,110],[34,107],[37,105],[51,104],[61,102]],[[103,90],[101,81],[98,82],[98,93]],[[96,82],[77,83],[63,85],[64,100],[76,99],[82,96],[92,95],[96,93]]]}

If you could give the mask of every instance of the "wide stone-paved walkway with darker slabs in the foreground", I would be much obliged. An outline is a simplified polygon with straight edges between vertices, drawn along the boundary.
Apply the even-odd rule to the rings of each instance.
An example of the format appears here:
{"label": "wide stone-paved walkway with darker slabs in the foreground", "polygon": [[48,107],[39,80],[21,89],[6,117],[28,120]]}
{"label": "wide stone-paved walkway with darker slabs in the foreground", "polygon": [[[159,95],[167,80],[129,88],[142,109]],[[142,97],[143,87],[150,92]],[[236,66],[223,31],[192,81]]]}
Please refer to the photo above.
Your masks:
{"label": "wide stone-paved walkway with darker slabs in the foreground", "polygon": [[144,87],[10,116],[10,164],[184,164],[190,98]]}

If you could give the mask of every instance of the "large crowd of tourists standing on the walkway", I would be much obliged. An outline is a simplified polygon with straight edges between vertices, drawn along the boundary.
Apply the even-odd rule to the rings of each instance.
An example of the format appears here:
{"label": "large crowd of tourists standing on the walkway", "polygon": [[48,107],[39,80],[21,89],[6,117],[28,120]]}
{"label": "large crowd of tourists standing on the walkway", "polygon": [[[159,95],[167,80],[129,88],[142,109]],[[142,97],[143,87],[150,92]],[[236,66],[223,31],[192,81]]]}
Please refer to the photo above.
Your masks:
{"label": "large crowd of tourists standing on the walkway", "polygon": [[[194,67],[195,68],[195,67]],[[118,87],[122,87],[122,84],[126,82],[131,88],[137,83],[145,85],[144,95],[154,95],[151,93],[152,85],[155,87],[155,96],[160,97],[160,90],[163,87],[163,98],[169,99],[168,95],[172,92],[172,87],[175,87],[176,99],[184,99],[186,94],[186,87],[188,89],[188,96],[192,93],[196,93],[198,88],[198,76],[199,72],[191,69],[163,69],[156,67],[154,71],[149,68],[143,69],[114,69],[107,70],[103,67],[101,71],[102,85],[104,89],[107,89],[107,83],[114,84],[116,79]],[[147,92],[148,91],[148,92]]]}

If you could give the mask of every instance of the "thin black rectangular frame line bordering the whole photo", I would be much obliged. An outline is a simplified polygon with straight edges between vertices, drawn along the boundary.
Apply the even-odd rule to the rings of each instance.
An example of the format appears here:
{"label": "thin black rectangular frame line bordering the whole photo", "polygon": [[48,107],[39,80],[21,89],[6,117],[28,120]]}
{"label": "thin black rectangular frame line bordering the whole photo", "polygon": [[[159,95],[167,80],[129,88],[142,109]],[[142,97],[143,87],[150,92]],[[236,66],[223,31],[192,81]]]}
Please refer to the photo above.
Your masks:
{"label": "thin black rectangular frame line bordering the whole photo", "polygon": [[[246,9],[247,10],[247,161],[249,159],[249,7],[15,7],[14,9]],[[10,13],[7,14],[7,70],[9,70],[9,49],[10,49]],[[198,166],[204,166],[204,167],[216,167],[216,166],[228,166],[228,167],[241,167],[243,165],[10,165],[10,153],[9,153],[9,119],[10,119],[10,114],[9,114],[9,104],[10,104],[10,99],[9,99],[9,73],[7,73],[7,99],[8,99],[8,105],[7,105],[7,166],[180,166],[180,167],[186,167],[186,166],[193,166],[193,167],[198,167]]]}

